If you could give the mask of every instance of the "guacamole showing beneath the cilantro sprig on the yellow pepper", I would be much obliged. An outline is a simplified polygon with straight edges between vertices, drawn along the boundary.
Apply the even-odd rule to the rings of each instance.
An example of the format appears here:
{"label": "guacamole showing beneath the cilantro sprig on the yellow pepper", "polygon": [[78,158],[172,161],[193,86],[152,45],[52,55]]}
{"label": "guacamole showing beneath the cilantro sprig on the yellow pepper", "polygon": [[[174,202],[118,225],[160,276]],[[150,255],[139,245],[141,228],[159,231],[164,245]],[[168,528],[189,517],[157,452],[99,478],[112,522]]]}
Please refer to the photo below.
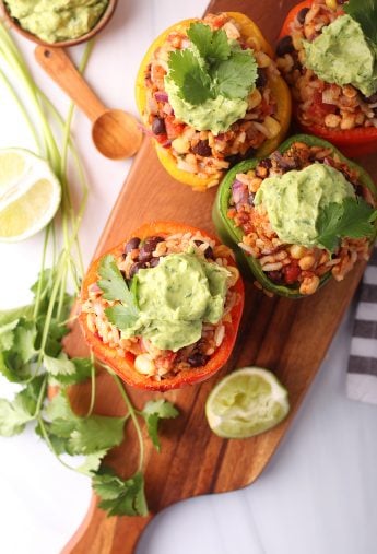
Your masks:
{"label": "guacamole showing beneath the cilantro sprig on the yellow pepper", "polygon": [[226,98],[222,94],[193,106],[180,97],[179,89],[168,76],[165,78],[165,90],[176,118],[197,131],[212,131],[215,135],[225,132],[232,123],[241,119],[247,110],[246,99]]}

